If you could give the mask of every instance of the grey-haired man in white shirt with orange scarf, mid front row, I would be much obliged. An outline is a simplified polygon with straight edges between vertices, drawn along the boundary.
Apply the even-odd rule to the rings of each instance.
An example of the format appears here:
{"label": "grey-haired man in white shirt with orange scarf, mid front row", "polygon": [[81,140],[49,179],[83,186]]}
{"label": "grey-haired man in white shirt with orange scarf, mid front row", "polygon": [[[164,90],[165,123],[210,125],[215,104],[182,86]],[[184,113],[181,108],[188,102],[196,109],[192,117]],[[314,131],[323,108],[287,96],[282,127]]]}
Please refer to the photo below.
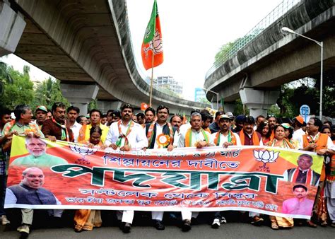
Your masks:
{"label": "grey-haired man in white shirt with orange scarf, mid front row", "polygon": [[[211,146],[211,134],[201,128],[201,115],[199,112],[194,112],[191,115],[191,128],[184,132],[180,132],[180,138],[177,144],[178,148],[182,147],[196,147],[203,148]],[[182,231],[191,230],[191,219],[196,218],[199,212],[192,212],[189,210],[182,211]]]}

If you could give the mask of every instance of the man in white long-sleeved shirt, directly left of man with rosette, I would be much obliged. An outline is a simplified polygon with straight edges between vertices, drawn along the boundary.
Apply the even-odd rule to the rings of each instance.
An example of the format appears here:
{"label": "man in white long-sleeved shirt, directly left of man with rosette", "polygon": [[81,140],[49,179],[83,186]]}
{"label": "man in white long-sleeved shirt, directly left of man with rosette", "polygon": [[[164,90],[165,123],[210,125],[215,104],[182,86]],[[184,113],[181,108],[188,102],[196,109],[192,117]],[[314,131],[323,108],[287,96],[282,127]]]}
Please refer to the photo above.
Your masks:
{"label": "man in white long-sleeved shirt, directly left of man with rosette", "polygon": [[[133,119],[134,107],[123,105],[121,107],[121,119],[110,125],[105,144],[114,150],[119,148],[120,151],[139,151],[148,147],[146,132],[140,124],[135,123]],[[122,220],[121,229],[124,233],[129,233],[131,223],[134,218],[134,211],[126,210],[121,213],[118,211],[117,218]]]}

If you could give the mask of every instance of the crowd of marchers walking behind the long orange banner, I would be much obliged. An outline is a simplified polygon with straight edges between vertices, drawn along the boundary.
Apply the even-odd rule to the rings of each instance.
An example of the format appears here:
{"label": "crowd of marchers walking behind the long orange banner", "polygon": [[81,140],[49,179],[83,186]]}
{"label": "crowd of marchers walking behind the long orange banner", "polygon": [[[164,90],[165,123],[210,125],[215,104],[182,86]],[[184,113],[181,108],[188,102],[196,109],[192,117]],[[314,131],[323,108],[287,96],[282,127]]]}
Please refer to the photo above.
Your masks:
{"label": "crowd of marchers walking behind the long orange banner", "polygon": [[[34,112],[33,112],[34,110]],[[32,158],[22,158],[19,164],[30,162],[23,172],[23,182],[15,187],[6,189],[6,178],[8,160],[11,153],[11,140],[13,134],[25,134],[28,136],[26,146],[32,147],[36,144],[34,140],[42,137],[50,141],[71,141],[86,144],[88,147],[107,147],[121,151],[139,151],[149,148],[166,148],[173,151],[174,148],[206,146],[273,146],[280,148],[293,148],[301,151],[313,151],[324,156],[324,168],[321,175],[312,175],[307,179],[308,170],[312,159],[301,157],[298,159],[298,168],[287,172],[287,177],[302,183],[310,180],[311,185],[319,185],[317,197],[313,205],[311,220],[293,220],[269,216],[271,228],[291,228],[296,223],[310,227],[320,226],[335,227],[335,159],[334,141],[335,126],[331,122],[322,122],[317,117],[310,117],[304,122],[301,116],[293,119],[278,118],[274,115],[259,115],[254,119],[252,116],[237,115],[231,112],[218,111],[211,115],[208,110],[192,110],[190,120],[187,122],[181,115],[172,115],[168,107],[158,106],[156,110],[148,107],[144,112],[134,113],[134,107],[129,104],[123,105],[120,110],[108,110],[104,115],[100,110],[90,110],[88,115],[81,115],[78,107],[70,106],[66,109],[64,103],[54,103],[51,110],[40,105],[36,109],[28,105],[17,105],[13,110],[1,109],[0,122],[0,216],[2,225],[11,223],[11,218],[4,209],[6,200],[18,197],[20,190],[42,190],[43,175]],[[170,119],[169,119],[170,118]],[[29,149],[28,149],[29,150]],[[30,157],[30,156],[29,156]],[[37,156],[35,156],[37,157]],[[40,155],[38,156],[40,157]],[[41,161],[52,161],[57,158],[41,158]],[[34,158],[35,159],[35,158]],[[47,163],[47,162],[45,162]],[[38,177],[40,181],[29,185],[29,177]],[[297,182],[298,182],[297,181]],[[304,187],[297,187],[297,192],[303,192]],[[306,189],[307,190],[307,189]],[[44,192],[44,191],[43,191]],[[41,192],[42,193],[42,192]],[[44,192],[47,194],[47,192]],[[33,196],[32,196],[33,197]],[[48,194],[54,202],[57,199]],[[26,199],[29,200],[29,199]],[[33,200],[33,198],[32,198]],[[36,202],[40,203],[42,202]],[[21,209],[22,221],[17,230],[21,235],[28,236],[30,226],[33,223],[34,210]],[[192,222],[198,216],[198,212],[182,211],[182,231],[189,231]],[[49,214],[60,218],[61,211]],[[153,226],[158,230],[164,230],[164,211],[153,211],[151,219]],[[246,215],[246,214],[244,214]],[[247,213],[249,222],[255,226],[264,223],[264,216],[254,212]],[[169,214],[169,216],[174,216]],[[213,213],[211,227],[219,228],[222,223],[227,223],[223,211]],[[117,211],[120,228],[124,233],[131,231],[134,211]],[[74,231],[88,231],[102,225],[99,210],[81,209],[76,210],[74,216]]]}

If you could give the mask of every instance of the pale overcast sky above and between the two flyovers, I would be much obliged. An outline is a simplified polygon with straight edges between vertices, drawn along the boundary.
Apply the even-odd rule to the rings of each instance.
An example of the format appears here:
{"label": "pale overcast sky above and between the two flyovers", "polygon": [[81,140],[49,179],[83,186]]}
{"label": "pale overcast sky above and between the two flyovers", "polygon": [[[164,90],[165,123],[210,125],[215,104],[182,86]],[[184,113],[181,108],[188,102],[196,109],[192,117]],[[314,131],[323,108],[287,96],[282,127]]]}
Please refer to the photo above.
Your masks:
{"label": "pale overcast sky above and between the two flyovers", "polygon": [[[184,96],[194,100],[194,88],[204,86],[221,45],[244,36],[268,15],[281,0],[158,0],[163,35],[164,62],[154,69],[154,76],[173,76],[182,81]],[[141,44],[151,16],[153,0],[127,0],[134,55],[142,71]],[[9,55],[1,59],[23,71],[27,64]],[[30,67],[34,80],[48,77]]]}

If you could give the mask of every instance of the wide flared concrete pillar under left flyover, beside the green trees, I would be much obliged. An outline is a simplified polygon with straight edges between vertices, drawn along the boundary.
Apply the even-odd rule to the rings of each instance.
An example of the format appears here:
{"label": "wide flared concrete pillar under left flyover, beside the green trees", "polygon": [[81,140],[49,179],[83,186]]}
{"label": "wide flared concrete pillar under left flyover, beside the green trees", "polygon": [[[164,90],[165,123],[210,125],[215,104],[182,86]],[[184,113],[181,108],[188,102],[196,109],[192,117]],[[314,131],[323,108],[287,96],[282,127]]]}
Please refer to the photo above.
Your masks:
{"label": "wide flared concrete pillar under left flyover, beside the green trees", "polygon": [[95,100],[98,95],[99,87],[97,85],[76,85],[61,83],[61,92],[64,97],[81,110],[81,115],[88,112],[88,103]]}

